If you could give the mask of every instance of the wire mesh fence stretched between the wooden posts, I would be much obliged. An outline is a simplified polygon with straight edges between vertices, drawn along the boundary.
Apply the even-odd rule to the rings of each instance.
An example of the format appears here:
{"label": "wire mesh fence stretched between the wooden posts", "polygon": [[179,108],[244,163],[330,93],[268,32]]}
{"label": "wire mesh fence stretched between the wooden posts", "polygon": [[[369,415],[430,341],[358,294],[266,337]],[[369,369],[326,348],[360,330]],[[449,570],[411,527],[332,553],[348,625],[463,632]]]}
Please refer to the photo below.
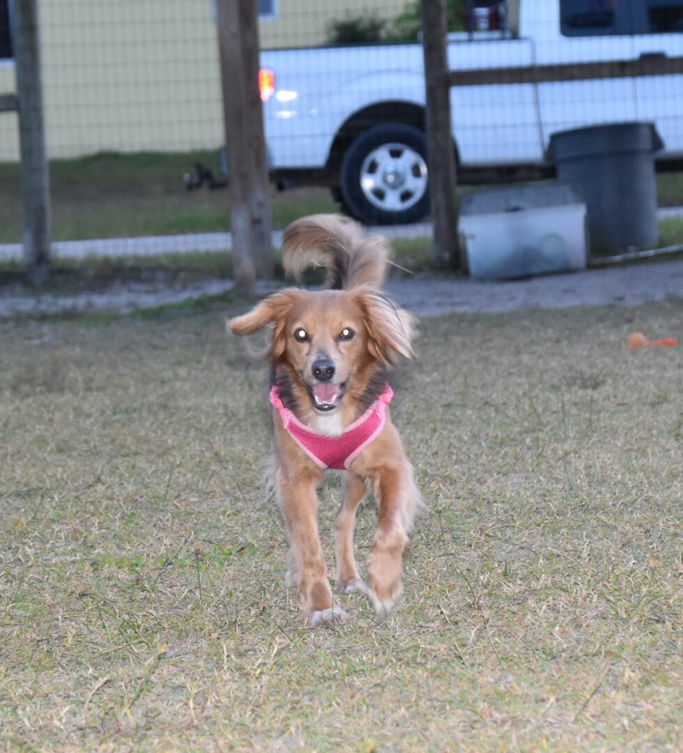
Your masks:
{"label": "wire mesh fence stretched between the wooden posts", "polygon": [[[21,241],[13,2],[0,0],[4,244]],[[661,164],[683,157],[683,0],[447,6],[461,184],[552,175],[553,134],[595,123],[652,122]],[[227,196],[209,191],[225,179],[215,3],[38,7],[54,238],[227,230]],[[424,217],[419,3],[258,0],[258,11],[274,183],[303,187],[302,211]],[[667,179],[666,203],[683,203]]]}

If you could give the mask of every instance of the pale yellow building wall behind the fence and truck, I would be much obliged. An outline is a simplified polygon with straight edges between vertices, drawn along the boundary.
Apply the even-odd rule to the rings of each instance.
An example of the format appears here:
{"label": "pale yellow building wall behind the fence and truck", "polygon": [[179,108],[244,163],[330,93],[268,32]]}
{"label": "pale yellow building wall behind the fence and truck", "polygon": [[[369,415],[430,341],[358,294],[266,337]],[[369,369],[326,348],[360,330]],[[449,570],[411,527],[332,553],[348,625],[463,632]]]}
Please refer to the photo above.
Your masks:
{"label": "pale yellow building wall behind the fence and truck", "polygon": [[[378,0],[401,10],[405,0]],[[342,10],[340,10],[340,5]],[[261,47],[321,44],[364,0],[276,0]],[[47,153],[187,151],[223,143],[211,0],[39,0]],[[0,93],[16,90],[0,62]],[[0,160],[18,159],[17,115],[0,113]]]}

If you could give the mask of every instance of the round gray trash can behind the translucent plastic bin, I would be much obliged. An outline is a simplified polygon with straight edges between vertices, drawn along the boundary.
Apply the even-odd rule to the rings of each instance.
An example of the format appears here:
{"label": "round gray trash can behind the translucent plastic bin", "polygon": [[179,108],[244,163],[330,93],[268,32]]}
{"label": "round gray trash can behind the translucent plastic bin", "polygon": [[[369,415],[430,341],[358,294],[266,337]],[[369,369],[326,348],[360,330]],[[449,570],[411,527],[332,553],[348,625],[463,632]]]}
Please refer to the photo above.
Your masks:
{"label": "round gray trash can behind the translucent plastic bin", "polygon": [[558,178],[583,188],[596,254],[657,245],[654,152],[662,147],[653,123],[611,123],[550,137],[548,158]]}

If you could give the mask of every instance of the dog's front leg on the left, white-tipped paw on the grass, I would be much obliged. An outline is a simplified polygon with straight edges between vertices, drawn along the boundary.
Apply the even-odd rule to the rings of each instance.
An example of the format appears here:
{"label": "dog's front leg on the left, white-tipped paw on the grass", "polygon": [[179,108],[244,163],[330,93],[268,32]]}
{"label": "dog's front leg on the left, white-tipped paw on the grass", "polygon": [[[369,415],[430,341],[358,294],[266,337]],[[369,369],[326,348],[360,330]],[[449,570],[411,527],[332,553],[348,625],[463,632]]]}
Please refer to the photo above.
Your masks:
{"label": "dog's front leg on the left, white-tipped paw on the grass", "polygon": [[297,586],[297,599],[311,624],[331,626],[343,622],[346,612],[334,601],[318,535],[316,480],[289,479],[277,472],[277,491],[285,516],[291,552],[288,580]]}

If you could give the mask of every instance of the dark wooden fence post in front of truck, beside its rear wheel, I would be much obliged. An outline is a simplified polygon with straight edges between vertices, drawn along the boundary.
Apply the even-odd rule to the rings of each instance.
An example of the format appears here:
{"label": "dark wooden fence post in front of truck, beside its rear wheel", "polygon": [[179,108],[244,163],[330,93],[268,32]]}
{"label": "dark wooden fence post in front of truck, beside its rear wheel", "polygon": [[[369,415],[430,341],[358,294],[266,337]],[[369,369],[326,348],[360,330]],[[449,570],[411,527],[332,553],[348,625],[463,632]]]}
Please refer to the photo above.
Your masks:
{"label": "dark wooden fence post in front of truck, beside its rear wheel", "polygon": [[421,0],[422,52],[425,57],[427,145],[434,257],[459,267],[456,157],[450,128],[446,0]]}

